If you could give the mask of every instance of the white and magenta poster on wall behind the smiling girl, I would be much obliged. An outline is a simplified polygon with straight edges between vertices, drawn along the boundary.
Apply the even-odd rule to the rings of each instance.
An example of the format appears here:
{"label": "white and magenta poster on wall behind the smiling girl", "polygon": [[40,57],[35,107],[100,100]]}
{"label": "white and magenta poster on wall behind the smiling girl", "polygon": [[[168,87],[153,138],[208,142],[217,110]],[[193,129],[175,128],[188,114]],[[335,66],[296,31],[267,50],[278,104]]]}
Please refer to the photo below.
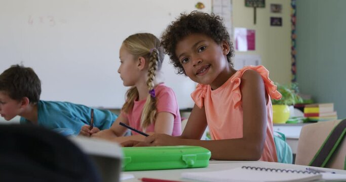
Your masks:
{"label": "white and magenta poster on wall behind the smiling girl", "polygon": [[236,51],[255,51],[255,30],[247,28],[234,29]]}

